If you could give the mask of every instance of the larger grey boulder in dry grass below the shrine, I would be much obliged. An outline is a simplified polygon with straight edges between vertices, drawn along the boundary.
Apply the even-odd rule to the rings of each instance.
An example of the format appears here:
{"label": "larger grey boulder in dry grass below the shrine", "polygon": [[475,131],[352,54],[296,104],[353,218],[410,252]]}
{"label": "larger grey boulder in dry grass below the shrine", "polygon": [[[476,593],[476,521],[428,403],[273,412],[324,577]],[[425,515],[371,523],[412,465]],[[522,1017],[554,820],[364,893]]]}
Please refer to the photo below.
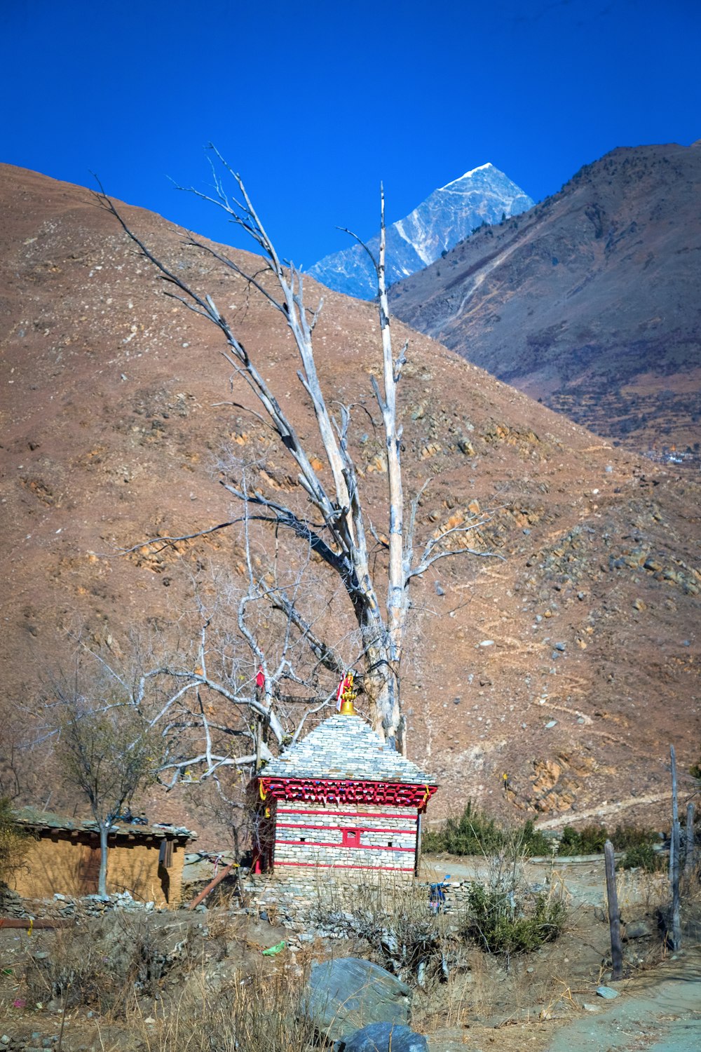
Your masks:
{"label": "larger grey boulder in dry grass below the shrine", "polygon": [[359,957],[312,965],[305,1010],[319,1034],[337,1041],[370,1023],[409,1023],[411,989]]}

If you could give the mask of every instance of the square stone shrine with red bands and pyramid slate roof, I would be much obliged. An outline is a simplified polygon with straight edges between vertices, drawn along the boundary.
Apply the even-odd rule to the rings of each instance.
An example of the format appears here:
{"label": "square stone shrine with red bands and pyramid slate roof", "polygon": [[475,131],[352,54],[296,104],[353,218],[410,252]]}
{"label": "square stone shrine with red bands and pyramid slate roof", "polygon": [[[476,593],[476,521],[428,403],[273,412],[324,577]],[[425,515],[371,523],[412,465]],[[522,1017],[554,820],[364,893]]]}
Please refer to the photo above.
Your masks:
{"label": "square stone shrine with red bands and pyramid slate roof", "polygon": [[[420,820],[435,781],[344,705],[281,756],[253,788],[262,802],[260,870],[418,869]],[[266,827],[267,824],[267,828]]]}

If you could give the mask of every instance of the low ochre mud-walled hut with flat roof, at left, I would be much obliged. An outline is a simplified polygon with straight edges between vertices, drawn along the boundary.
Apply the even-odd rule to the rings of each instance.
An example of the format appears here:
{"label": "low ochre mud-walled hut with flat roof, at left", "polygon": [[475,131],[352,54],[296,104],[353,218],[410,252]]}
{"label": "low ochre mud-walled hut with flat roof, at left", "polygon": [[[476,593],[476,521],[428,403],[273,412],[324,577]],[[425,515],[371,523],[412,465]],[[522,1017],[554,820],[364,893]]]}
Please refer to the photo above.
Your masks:
{"label": "low ochre mud-walled hut with flat roof, at left", "polygon": [[[94,822],[29,807],[17,811],[15,820],[32,834],[26,859],[14,877],[23,898],[97,894],[100,835]],[[133,898],[174,909],[186,846],[194,839],[197,833],[181,827],[116,822],[107,838],[107,892],[128,891]]]}

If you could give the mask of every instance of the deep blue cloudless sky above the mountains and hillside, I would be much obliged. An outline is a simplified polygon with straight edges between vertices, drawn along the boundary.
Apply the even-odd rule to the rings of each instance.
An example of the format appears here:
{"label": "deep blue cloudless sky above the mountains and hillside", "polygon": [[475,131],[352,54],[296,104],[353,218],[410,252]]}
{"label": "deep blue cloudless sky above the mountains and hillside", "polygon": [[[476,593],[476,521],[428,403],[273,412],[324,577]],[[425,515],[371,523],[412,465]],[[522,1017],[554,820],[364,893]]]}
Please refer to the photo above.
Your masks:
{"label": "deep blue cloudless sky above the mountains and hillside", "polygon": [[212,141],[310,266],[487,161],[539,200],[615,146],[701,137],[699,0],[0,0],[0,160],[218,240]]}

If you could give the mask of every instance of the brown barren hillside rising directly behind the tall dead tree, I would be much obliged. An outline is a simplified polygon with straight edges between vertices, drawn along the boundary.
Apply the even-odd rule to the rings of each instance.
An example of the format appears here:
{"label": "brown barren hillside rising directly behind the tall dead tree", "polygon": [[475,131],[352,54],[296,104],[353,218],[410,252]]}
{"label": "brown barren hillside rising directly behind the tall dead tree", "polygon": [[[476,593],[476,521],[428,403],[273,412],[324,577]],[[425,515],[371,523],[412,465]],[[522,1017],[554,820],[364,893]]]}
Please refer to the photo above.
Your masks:
{"label": "brown barren hillside rising directly behind the tall dead tree", "polygon": [[[167,634],[193,582],[238,562],[227,531],[158,554],[119,549],[230,518],[218,458],[257,438],[251,418],[227,403],[231,370],[213,330],[164,298],[89,191],[2,166],[0,209],[9,725],[23,722],[42,674],[65,660],[67,629],[80,625],[116,653],[133,626]],[[279,316],[185,249],[170,223],[124,214],[226,305],[318,453]],[[404,705],[410,754],[442,786],[433,816],[469,797],[563,821],[604,802],[626,802],[617,818],[641,814],[666,790],[671,742],[682,769],[699,758],[699,487],[406,335],[406,485],[429,482],[417,531],[426,538],[471,509],[493,509],[477,541],[503,557],[444,561],[416,590]],[[355,409],[352,442],[382,532],[374,307],[329,294],[316,346],[325,389],[368,410]],[[247,396],[234,388],[233,398]],[[283,452],[267,457],[269,476],[293,488]],[[627,807],[638,798],[637,810]],[[173,806],[158,803],[161,814]],[[177,807],[206,826],[187,797]]]}

